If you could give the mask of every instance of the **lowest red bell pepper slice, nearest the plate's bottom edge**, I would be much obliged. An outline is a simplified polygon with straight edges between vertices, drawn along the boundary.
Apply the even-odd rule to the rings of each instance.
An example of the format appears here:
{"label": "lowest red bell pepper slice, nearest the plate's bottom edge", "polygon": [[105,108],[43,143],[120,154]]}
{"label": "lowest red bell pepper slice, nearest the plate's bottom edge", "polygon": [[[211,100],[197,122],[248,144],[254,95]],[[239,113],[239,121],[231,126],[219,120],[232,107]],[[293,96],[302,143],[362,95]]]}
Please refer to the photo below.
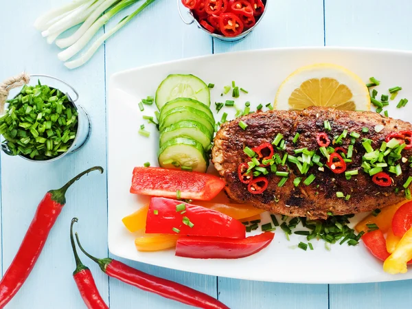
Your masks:
{"label": "lowest red bell pepper slice, nearest the plate's bottom edge", "polygon": [[258,253],[275,237],[266,232],[241,240],[229,238],[182,237],[176,243],[176,255],[195,259],[238,259]]}

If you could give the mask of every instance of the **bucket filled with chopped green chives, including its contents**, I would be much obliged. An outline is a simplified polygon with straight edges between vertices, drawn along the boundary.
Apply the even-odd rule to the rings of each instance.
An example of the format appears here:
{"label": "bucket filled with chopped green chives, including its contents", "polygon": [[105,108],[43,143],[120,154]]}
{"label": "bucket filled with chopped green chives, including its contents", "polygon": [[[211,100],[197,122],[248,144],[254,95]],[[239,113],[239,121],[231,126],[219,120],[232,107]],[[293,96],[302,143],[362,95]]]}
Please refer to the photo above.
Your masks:
{"label": "bucket filled with chopped green chives, including its contents", "polygon": [[[58,80],[69,87],[76,98],[72,100],[69,93],[40,80],[30,84],[31,77]],[[52,76],[36,74],[29,77],[22,73],[2,85],[8,85],[7,93],[23,85],[14,98],[5,101],[3,112],[0,104],[1,149],[6,155],[51,162],[75,152],[87,141],[91,128],[89,115],[76,104],[78,93],[66,82]],[[1,91],[4,93],[4,88]]]}

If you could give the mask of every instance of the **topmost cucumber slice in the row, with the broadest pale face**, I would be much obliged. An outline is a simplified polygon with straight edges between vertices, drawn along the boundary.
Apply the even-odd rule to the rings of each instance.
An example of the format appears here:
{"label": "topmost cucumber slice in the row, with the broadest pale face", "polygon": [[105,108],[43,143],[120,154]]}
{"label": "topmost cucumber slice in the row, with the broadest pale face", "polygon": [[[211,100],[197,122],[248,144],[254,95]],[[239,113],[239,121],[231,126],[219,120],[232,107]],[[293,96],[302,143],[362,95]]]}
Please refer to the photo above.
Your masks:
{"label": "topmost cucumber slice in the row, with the broadest pale face", "polygon": [[170,74],[157,88],[155,101],[159,111],[166,102],[176,98],[191,98],[210,106],[207,84],[192,74]]}

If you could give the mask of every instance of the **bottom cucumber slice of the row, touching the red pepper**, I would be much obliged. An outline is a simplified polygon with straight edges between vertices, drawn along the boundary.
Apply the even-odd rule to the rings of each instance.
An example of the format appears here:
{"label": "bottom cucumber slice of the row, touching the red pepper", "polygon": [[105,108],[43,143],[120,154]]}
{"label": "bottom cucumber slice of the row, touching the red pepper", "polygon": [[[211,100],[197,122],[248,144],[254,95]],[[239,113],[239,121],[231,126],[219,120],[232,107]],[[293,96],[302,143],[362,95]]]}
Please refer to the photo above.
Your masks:
{"label": "bottom cucumber slice of the row, touching the red pepper", "polygon": [[162,168],[187,166],[194,172],[206,172],[209,165],[202,144],[186,137],[176,137],[166,141],[159,149],[158,157]]}

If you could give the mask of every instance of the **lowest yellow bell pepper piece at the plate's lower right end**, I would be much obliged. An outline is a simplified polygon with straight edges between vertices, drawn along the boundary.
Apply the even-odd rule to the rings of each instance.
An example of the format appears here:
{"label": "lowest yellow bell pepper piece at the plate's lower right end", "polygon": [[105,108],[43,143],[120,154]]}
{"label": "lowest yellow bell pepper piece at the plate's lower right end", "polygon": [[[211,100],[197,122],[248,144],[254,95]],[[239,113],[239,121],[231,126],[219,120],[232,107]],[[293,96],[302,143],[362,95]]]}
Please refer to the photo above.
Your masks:
{"label": "lowest yellow bell pepper piece at the plate's lower right end", "polygon": [[407,262],[412,259],[412,229],[402,236],[398,246],[389,258],[383,262],[383,270],[391,275],[406,273],[408,271]]}

